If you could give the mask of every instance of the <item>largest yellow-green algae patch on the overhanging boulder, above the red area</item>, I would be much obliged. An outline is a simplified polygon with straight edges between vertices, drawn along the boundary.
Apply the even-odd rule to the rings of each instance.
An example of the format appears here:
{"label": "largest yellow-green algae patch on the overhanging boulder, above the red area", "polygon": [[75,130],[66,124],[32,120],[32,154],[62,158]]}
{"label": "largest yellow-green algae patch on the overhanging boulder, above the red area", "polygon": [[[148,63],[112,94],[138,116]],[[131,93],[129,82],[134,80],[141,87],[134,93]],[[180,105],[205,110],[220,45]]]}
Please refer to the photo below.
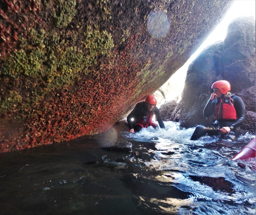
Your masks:
{"label": "largest yellow-green algae patch on the overhanging boulder, above the red area", "polygon": [[[65,41],[58,42],[56,33],[46,34],[44,30],[37,33],[31,29],[29,38],[20,38],[21,49],[6,57],[0,66],[1,74],[13,78],[21,75],[37,78],[51,83],[48,86],[50,89],[72,83],[81,70],[96,63],[96,56],[108,55],[114,47],[111,34],[98,29],[86,32],[82,42],[84,51],[77,47],[65,47]],[[84,71],[87,74],[88,70]]]}

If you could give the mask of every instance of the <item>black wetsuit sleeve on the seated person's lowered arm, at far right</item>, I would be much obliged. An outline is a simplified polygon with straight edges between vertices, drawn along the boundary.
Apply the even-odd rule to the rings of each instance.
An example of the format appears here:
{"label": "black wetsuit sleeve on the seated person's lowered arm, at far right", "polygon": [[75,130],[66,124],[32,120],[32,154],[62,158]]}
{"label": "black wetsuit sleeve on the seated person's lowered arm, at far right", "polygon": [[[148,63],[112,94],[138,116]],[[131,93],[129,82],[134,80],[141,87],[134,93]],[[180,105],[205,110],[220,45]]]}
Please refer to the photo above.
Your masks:
{"label": "black wetsuit sleeve on the seated person's lowered arm, at far right", "polygon": [[237,120],[234,121],[230,127],[233,126],[234,128],[237,128],[245,121],[245,104],[239,96],[233,96],[232,99],[234,101],[235,111],[237,112]]}

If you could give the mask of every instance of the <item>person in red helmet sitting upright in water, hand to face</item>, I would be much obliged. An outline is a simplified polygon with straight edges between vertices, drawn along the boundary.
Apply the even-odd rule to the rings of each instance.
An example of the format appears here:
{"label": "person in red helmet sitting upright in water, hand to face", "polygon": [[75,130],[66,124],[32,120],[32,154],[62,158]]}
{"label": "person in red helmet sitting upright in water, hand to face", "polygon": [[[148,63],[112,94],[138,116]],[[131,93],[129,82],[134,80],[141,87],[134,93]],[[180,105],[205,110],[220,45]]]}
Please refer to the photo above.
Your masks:
{"label": "person in red helmet sitting upright in water, hand to face", "polygon": [[221,138],[232,142],[239,137],[240,125],[245,121],[245,104],[239,96],[229,92],[231,86],[228,81],[216,81],[211,88],[213,93],[203,109],[203,116],[214,114],[215,122],[209,126],[198,125],[190,140],[220,134]]}

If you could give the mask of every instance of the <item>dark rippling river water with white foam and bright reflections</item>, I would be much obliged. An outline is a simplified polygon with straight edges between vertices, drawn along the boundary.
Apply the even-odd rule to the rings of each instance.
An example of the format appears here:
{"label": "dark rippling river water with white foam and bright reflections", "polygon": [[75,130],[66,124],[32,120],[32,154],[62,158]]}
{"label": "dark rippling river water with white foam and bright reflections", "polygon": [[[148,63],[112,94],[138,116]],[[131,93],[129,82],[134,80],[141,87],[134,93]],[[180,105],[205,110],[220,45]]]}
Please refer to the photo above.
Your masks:
{"label": "dark rippling river water with white foam and bright reflections", "polygon": [[[230,158],[238,142],[165,122],[145,129],[0,154],[0,214],[255,214],[255,160]],[[130,141],[132,152],[103,150]]]}

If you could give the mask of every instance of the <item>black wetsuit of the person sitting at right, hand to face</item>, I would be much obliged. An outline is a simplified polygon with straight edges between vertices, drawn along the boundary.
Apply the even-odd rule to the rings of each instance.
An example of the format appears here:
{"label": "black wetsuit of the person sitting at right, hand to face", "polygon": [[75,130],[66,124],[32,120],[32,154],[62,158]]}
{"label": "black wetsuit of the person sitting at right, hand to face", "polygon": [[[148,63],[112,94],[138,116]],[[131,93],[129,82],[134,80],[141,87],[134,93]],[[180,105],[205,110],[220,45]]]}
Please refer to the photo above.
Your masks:
{"label": "black wetsuit of the person sitting at right, hand to face", "polygon": [[[234,141],[235,138],[239,137],[240,135],[240,125],[245,121],[245,104],[243,100],[239,96],[235,96],[234,94],[230,95],[230,98],[233,102],[235,111],[236,111],[236,119],[234,120],[227,120],[227,119],[216,119],[215,122],[211,125],[204,126],[198,125],[195,128],[194,133],[192,134],[190,140],[197,140],[198,138],[209,135],[219,135],[219,129],[223,127],[230,127],[230,132],[222,135],[222,138],[227,139],[229,141]],[[230,99],[229,97],[222,98],[222,100]],[[220,98],[210,100],[207,102],[204,110],[203,116],[209,117],[214,113],[214,108],[217,102],[220,101]]]}

